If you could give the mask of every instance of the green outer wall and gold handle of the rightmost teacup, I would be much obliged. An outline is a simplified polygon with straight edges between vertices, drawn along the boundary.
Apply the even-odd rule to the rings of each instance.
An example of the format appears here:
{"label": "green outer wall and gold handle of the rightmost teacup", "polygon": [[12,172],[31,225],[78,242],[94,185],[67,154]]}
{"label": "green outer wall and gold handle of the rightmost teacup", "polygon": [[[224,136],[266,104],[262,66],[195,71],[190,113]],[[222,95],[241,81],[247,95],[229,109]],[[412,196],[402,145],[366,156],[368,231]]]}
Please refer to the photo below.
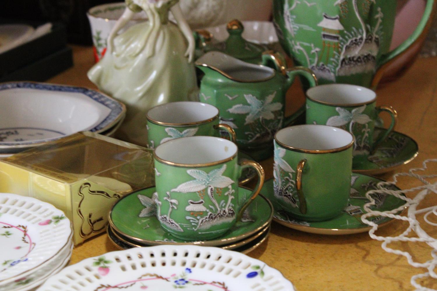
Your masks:
{"label": "green outer wall and gold handle of the rightmost teacup", "polygon": [[395,116],[388,111],[392,116],[392,123],[385,132],[379,132],[376,136],[378,140],[374,138],[375,121],[378,120],[378,114],[382,111],[386,110],[376,107],[376,101],[360,106],[335,106],[306,98],[307,124],[339,127],[354,135],[354,168],[363,156],[367,158],[375,147],[385,140],[395,126]]}

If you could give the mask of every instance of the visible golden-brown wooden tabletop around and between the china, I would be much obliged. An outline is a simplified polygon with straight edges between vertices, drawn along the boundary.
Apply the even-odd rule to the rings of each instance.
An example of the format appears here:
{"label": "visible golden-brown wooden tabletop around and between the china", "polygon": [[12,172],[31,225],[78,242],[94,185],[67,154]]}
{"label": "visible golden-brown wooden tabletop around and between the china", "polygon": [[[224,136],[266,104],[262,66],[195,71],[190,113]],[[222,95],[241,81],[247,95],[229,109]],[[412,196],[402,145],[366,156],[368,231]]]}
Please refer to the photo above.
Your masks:
{"label": "visible golden-brown wooden tabletop around and between the china", "polygon": [[[74,67],[50,79],[48,82],[96,88],[87,79],[87,71],[93,65],[90,47],[73,46]],[[377,89],[379,105],[392,105],[398,112],[395,130],[413,137],[419,144],[419,155],[409,164],[396,168],[396,172],[420,167],[422,161],[437,157],[437,58],[421,58],[395,82],[382,84]],[[288,111],[304,102],[299,84],[289,92]],[[388,116],[384,116],[388,117]],[[387,119],[388,121],[388,119]],[[271,178],[272,162],[262,162],[266,178]],[[431,170],[437,173],[437,167]],[[392,173],[379,178],[390,179]],[[420,185],[412,179],[399,182],[400,188]],[[416,193],[409,194],[414,197]],[[423,206],[437,205],[436,195],[427,197]],[[382,227],[381,236],[399,235],[408,226],[395,221]],[[423,226],[437,237],[437,229]],[[430,247],[425,243],[392,243],[390,246],[409,251],[424,262],[430,260]],[[106,234],[94,237],[73,250],[71,264],[87,257],[94,257],[118,250]],[[410,278],[426,269],[411,267],[405,257],[386,253],[381,242],[372,240],[368,233],[343,236],[326,236],[304,233],[277,223],[272,223],[267,241],[248,254],[280,270],[299,291],[302,290],[413,290]],[[425,279],[422,284],[437,289],[437,280]]]}

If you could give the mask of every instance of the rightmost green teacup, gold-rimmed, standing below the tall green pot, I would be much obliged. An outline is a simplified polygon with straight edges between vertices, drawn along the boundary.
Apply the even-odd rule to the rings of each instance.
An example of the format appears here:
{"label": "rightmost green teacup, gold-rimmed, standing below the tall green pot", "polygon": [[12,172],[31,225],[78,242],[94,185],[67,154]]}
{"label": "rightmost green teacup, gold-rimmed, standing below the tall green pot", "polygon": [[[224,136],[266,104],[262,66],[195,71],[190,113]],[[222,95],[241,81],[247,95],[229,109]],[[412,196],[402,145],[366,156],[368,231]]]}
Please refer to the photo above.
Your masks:
{"label": "rightmost green teacup, gold-rimmed, standing below the tall green pot", "polygon": [[[375,121],[382,111],[390,113],[392,123],[374,141]],[[326,124],[348,130],[355,137],[354,166],[367,158],[390,134],[397,113],[391,106],[376,106],[376,93],[371,89],[348,84],[329,84],[306,92],[306,123]]]}

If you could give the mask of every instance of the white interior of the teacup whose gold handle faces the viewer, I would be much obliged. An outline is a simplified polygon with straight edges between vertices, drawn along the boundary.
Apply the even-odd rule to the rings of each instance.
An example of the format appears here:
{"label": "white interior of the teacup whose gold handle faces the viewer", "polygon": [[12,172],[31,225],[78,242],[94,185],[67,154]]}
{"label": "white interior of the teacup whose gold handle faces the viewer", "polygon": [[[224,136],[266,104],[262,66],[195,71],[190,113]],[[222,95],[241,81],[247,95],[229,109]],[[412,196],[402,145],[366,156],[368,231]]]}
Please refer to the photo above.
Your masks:
{"label": "white interior of the teacup whose gold handle faces the viewer", "polygon": [[326,125],[296,125],[277,132],[275,139],[288,147],[326,151],[345,147],[354,137],[346,130]]}

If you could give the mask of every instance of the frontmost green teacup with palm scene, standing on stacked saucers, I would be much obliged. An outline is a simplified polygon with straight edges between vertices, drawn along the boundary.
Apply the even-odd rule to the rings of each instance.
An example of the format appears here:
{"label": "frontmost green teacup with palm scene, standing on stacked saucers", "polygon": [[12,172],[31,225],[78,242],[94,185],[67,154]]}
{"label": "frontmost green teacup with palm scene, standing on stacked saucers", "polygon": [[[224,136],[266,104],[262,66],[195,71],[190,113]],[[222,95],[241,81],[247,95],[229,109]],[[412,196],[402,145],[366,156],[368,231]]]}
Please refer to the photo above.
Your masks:
{"label": "frontmost green teacup with palm scene, standing on stacked saucers", "polygon": [[[243,214],[264,184],[254,161],[238,161],[238,147],[219,137],[184,137],[155,149],[157,218],[164,230],[182,240],[222,236]],[[252,195],[238,192],[244,168],[258,173]]]}

